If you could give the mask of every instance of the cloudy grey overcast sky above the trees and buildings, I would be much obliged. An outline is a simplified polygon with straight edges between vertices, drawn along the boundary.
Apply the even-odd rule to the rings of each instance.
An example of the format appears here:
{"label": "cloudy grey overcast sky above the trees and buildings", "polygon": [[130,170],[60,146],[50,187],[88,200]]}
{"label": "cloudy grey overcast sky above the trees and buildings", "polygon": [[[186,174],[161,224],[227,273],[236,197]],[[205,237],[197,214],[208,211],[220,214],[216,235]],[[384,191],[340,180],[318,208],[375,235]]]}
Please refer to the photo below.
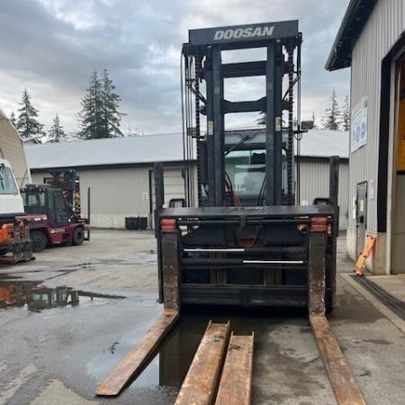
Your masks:
{"label": "cloudy grey overcast sky above the trees and buildings", "polygon": [[[311,119],[314,111],[320,123],[332,88],[340,104],[349,93],[349,69],[324,69],[348,3],[2,0],[0,108],[17,113],[26,88],[46,130],[58,113],[65,130],[75,132],[90,76],[106,68],[121,95],[121,112],[127,114],[123,132],[180,131],[180,52],[189,29],[298,19],[303,36],[302,120]],[[249,92],[246,86],[238,88]]]}

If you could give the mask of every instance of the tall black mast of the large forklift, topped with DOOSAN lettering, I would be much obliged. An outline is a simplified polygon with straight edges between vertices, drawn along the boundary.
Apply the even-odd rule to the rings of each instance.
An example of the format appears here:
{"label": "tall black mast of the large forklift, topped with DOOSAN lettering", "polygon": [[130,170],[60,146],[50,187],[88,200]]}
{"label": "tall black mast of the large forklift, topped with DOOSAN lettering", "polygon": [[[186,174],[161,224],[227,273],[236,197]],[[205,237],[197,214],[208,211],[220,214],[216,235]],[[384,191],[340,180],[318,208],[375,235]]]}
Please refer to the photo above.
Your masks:
{"label": "tall black mast of the large forklift, topped with DOOSAN lettering", "polygon": [[[199,206],[295,203],[293,99],[300,82],[301,43],[298,21],[189,31],[183,45],[187,206],[196,205],[194,148]],[[252,48],[265,49],[266,60],[222,63],[224,52]],[[263,97],[225,99],[227,79],[251,76],[265,77]],[[257,119],[262,112],[265,129],[228,130],[226,115],[240,112],[257,112]],[[203,128],[201,115],[206,116]]]}

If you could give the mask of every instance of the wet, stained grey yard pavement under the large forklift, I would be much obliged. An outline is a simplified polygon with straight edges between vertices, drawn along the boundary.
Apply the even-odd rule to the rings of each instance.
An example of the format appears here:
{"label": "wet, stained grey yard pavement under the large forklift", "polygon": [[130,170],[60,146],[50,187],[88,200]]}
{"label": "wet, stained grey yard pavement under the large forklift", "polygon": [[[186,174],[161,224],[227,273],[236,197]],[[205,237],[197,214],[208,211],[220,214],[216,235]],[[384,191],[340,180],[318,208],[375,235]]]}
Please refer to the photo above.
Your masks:
{"label": "wet, stained grey yard pavement under the large forklift", "polygon": [[[405,403],[405,322],[353,281],[345,244],[343,235],[329,323],[367,403]],[[31,311],[19,302],[0,310],[0,404],[173,404],[210,319],[230,320],[238,333],[255,331],[252,404],[336,403],[305,311],[275,310],[184,313],[120,396],[94,396],[162,311],[151,231],[94,229],[83,246],[52,247],[32,262],[0,266],[0,283],[20,293],[37,285],[79,292],[76,306]]]}

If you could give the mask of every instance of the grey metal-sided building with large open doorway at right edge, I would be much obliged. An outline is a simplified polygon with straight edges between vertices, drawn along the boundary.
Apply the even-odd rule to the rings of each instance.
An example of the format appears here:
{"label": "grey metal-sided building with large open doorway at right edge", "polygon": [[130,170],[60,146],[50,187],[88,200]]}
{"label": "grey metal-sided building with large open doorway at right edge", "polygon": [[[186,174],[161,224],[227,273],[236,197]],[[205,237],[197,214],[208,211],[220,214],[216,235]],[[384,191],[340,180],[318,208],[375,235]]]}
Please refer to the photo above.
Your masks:
{"label": "grey metal-sided building with large open doorway at right edge", "polygon": [[326,64],[351,68],[347,253],[376,237],[376,275],[405,273],[404,28],[403,0],[351,0]]}

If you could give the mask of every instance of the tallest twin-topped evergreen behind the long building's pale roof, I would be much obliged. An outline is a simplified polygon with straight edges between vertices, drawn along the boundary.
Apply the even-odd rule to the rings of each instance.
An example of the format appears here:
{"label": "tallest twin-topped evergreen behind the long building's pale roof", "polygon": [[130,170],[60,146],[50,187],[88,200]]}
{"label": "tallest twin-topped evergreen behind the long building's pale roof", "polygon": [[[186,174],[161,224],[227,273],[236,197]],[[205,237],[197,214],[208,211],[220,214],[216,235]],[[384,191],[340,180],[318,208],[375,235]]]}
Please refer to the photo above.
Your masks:
{"label": "tallest twin-topped evergreen behind the long building's pale roof", "polygon": [[121,98],[114,93],[115,86],[109,78],[107,70],[102,77],[94,71],[85,97],[82,99],[83,109],[79,113],[82,139],[112,138],[122,136],[120,130],[121,112],[118,112]]}

